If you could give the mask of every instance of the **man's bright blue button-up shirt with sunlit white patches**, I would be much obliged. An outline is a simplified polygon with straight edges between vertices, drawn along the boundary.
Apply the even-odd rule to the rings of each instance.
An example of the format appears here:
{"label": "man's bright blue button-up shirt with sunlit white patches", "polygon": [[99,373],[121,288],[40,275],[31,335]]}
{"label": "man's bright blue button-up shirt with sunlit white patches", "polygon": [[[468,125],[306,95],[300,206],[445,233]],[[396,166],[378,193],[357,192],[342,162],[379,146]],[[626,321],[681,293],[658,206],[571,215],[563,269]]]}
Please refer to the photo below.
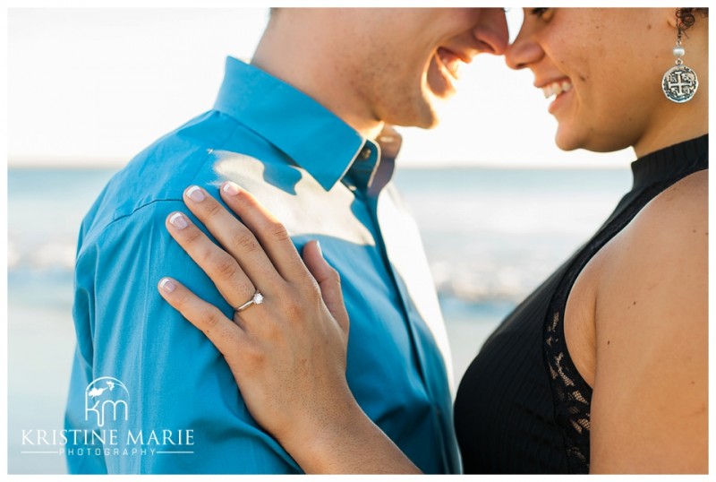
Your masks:
{"label": "man's bright blue button-up shirt with sunlit white patches", "polygon": [[417,229],[390,183],[398,147],[395,133],[366,140],[301,91],[227,59],[215,107],[142,151],[82,223],[70,471],[301,471],[253,421],[217,349],[157,292],[173,276],[232,314],[165,228],[170,212],[188,212],[188,185],[217,195],[226,179],[299,248],[320,239],[340,272],[347,380],[362,409],[425,472],[459,471],[447,335]]}

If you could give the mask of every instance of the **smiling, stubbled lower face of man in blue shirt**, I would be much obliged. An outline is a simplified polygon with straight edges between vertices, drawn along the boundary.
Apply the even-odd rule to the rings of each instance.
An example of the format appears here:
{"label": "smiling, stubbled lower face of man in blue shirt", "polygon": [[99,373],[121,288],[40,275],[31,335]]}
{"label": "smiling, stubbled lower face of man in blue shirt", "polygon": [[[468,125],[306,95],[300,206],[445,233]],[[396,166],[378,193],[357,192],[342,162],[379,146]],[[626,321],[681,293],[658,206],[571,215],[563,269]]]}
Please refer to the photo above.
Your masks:
{"label": "smiling, stubbled lower face of man in blue shirt", "polygon": [[507,22],[501,8],[344,9],[352,48],[345,73],[369,116],[391,125],[430,128],[436,105],[456,92],[463,64],[502,54]]}

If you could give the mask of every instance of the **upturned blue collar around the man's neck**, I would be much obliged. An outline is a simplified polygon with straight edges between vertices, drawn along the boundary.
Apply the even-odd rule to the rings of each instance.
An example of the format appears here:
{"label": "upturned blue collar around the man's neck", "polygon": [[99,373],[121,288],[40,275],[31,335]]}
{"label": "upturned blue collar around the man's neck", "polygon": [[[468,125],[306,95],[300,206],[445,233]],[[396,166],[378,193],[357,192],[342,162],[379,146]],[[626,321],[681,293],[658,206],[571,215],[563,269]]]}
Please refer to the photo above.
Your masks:
{"label": "upturned blue collar around the man's neck", "polygon": [[226,58],[214,108],[285,152],[327,191],[345,176],[366,144],[361,134],[316,100],[233,57]]}

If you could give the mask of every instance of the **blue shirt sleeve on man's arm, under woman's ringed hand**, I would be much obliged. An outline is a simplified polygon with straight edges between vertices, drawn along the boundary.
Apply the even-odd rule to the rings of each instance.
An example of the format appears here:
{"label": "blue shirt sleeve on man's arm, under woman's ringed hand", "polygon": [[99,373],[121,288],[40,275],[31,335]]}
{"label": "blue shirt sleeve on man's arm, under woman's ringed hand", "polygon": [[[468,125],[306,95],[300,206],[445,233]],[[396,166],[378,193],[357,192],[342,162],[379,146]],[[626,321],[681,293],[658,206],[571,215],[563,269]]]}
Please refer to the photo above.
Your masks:
{"label": "blue shirt sleeve on man's arm, under woman's ringed hand", "polygon": [[[169,237],[172,211],[188,212],[183,202],[153,202],[82,239],[65,416],[68,469],[301,473],[253,421],[221,354],[158,294],[158,280],[171,276],[227,315],[233,311]],[[107,409],[103,426],[96,407]]]}

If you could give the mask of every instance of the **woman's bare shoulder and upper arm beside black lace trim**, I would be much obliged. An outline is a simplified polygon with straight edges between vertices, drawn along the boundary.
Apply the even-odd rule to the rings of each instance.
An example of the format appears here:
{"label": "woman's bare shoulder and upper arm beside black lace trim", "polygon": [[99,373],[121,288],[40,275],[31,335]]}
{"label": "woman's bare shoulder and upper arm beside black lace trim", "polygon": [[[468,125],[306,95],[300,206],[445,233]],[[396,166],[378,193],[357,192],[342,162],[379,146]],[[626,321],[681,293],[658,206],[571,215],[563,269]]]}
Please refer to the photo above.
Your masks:
{"label": "woman's bare shoulder and upper arm beside black lace trim", "polygon": [[612,240],[597,297],[592,472],[708,472],[708,172]]}

